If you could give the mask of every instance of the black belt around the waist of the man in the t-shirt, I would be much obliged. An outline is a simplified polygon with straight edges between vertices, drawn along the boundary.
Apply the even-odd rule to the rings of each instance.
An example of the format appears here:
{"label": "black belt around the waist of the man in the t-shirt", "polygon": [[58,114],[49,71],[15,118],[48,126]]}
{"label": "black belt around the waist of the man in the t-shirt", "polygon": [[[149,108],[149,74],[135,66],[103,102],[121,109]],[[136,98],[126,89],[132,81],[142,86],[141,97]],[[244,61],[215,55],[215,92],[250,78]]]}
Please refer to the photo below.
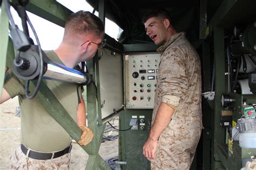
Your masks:
{"label": "black belt around the waist of the man in the t-shirt", "polygon": [[[36,152],[36,151],[30,150],[28,157],[32,159],[46,160],[46,159],[52,159],[52,155],[54,154],[53,158],[58,158],[66,153],[69,153],[71,151],[71,148],[72,148],[72,145],[66,147],[62,151],[53,152],[53,153]],[[23,144],[21,144],[21,150],[25,155],[26,153],[28,153],[28,148],[26,148]]]}

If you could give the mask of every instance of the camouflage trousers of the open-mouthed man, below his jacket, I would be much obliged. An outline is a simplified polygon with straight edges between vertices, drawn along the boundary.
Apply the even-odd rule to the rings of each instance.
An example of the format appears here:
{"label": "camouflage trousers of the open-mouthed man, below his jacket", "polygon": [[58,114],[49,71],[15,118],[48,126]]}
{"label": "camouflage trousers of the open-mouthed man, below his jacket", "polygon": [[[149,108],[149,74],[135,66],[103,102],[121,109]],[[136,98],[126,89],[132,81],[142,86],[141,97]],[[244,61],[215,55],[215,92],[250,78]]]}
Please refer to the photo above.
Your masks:
{"label": "camouflage trousers of the open-mouthed man, below his jacket", "polygon": [[158,140],[156,159],[151,160],[151,169],[190,169],[200,134],[201,128],[190,129],[186,135],[163,132]]}

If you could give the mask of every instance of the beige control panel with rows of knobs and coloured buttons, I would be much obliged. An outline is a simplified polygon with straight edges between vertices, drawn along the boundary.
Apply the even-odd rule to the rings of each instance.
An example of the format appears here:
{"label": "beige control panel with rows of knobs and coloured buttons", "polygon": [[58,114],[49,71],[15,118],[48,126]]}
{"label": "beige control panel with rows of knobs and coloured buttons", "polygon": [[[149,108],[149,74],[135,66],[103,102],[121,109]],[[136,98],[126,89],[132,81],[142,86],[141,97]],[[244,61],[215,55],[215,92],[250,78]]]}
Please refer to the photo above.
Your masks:
{"label": "beige control panel with rows of knobs and coloured buttons", "polygon": [[126,108],[153,109],[159,62],[156,52],[125,55]]}

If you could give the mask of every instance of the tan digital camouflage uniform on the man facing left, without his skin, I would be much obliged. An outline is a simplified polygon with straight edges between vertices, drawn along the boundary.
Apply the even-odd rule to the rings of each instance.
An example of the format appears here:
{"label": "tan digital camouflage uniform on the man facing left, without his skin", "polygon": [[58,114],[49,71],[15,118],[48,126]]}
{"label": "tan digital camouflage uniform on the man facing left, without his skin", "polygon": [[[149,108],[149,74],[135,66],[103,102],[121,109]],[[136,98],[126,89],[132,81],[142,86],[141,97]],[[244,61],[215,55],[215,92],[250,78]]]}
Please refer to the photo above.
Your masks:
{"label": "tan digital camouflage uniform on the man facing left, without his skin", "polygon": [[185,32],[172,36],[157,51],[161,53],[161,61],[152,124],[161,102],[177,109],[159,137],[151,168],[190,169],[202,129],[200,59]]}

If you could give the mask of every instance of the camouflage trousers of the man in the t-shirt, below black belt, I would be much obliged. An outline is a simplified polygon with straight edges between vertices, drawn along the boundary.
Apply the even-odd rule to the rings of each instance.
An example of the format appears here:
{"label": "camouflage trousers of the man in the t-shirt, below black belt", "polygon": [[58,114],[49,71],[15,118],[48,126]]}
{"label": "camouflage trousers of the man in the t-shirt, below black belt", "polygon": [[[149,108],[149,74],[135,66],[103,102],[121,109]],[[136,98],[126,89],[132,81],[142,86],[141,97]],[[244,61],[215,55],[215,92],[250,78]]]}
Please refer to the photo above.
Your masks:
{"label": "camouflage trousers of the man in the t-shirt, below black belt", "polygon": [[21,146],[11,156],[11,169],[69,169],[71,154],[48,160],[37,160],[26,157]]}

